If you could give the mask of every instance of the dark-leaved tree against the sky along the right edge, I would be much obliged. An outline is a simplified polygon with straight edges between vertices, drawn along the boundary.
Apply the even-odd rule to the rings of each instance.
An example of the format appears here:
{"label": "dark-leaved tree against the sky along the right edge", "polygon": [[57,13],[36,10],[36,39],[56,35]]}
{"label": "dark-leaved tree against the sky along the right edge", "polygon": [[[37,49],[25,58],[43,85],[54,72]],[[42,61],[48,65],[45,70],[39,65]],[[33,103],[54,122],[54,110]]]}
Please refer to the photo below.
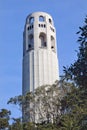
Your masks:
{"label": "dark-leaved tree against the sky along the right edge", "polygon": [[79,27],[77,60],[70,67],[64,67],[67,79],[73,80],[78,86],[87,88],[87,17],[83,27]]}

